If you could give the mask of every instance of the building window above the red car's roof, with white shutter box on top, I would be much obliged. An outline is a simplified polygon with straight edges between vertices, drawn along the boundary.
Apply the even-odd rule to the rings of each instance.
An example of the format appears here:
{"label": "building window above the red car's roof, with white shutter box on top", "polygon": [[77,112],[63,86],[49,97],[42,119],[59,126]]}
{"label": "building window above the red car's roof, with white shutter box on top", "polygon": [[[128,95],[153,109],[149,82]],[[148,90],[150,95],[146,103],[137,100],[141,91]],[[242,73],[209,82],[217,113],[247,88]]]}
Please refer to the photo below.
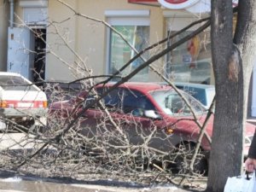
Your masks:
{"label": "building window above the red car's roof, with white shutter box on top", "polygon": [[[131,14],[134,12],[135,15]],[[131,44],[137,51],[141,51],[148,46],[149,41],[149,12],[148,11],[113,11],[108,13],[108,22],[113,28],[120,32],[122,36]],[[108,73],[113,74],[119,72],[128,61],[131,60],[137,53],[125,43],[125,41],[111,30],[108,31]],[[144,53],[143,57],[148,59],[148,53]],[[119,75],[125,76],[131,73],[134,69],[143,63],[141,58],[133,61],[129,67]],[[144,68],[132,80],[147,81],[148,67]]]}

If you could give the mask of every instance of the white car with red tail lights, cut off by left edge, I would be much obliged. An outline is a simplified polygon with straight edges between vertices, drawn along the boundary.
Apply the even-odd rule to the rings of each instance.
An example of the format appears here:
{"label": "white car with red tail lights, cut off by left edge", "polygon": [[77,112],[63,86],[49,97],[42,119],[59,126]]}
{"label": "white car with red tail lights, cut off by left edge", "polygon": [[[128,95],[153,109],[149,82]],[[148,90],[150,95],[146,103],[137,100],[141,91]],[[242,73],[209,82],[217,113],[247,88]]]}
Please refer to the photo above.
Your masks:
{"label": "white car with red tail lights, cut off by left edge", "polygon": [[0,72],[0,130],[29,130],[46,125],[44,91],[18,73]]}

